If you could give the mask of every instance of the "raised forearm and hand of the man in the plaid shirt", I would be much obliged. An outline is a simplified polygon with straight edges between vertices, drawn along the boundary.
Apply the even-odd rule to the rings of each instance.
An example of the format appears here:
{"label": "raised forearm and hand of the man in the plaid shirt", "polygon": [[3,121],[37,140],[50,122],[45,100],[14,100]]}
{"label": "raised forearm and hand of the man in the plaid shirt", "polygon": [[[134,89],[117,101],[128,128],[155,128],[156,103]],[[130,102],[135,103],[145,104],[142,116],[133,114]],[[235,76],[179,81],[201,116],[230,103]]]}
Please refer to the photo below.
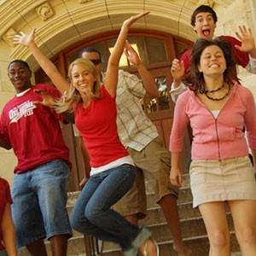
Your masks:
{"label": "raised forearm and hand of the man in the plaid shirt", "polygon": [[143,62],[140,60],[135,49],[131,47],[131,44],[126,40],[125,42],[125,55],[128,60],[137,67],[137,71],[143,79],[143,86],[146,90],[146,96],[148,98],[155,98],[158,96],[157,85],[154,82],[154,78],[148,69],[144,66]]}

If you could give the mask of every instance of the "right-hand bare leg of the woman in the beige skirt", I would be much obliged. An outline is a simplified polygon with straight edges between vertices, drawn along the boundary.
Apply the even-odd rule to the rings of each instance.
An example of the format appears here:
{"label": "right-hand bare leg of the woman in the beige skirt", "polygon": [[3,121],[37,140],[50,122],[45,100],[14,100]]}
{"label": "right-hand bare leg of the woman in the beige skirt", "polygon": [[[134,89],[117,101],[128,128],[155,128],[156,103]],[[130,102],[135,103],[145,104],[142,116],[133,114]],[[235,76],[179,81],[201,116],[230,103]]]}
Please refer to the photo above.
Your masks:
{"label": "right-hand bare leg of the woman in the beige skirt", "polygon": [[256,255],[256,201],[229,201],[241,254]]}

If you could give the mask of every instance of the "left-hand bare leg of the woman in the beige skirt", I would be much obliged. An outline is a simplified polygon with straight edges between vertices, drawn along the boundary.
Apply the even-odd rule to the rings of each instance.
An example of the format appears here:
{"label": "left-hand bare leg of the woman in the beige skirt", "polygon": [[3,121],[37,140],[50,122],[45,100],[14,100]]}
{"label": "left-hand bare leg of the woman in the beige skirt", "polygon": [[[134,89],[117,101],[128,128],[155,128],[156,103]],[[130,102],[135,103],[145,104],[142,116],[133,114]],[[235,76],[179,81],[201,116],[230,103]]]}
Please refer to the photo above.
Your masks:
{"label": "left-hand bare leg of the woman in the beige skirt", "polygon": [[224,201],[209,202],[199,206],[207,228],[211,256],[230,256],[230,230]]}

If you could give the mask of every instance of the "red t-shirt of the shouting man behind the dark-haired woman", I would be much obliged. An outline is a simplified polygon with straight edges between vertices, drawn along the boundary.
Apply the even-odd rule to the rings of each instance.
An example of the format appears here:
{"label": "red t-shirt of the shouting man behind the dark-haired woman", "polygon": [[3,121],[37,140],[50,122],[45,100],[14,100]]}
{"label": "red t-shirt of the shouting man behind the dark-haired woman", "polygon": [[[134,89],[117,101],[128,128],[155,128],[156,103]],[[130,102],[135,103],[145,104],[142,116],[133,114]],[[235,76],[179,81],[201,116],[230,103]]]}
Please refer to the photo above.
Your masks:
{"label": "red t-shirt of the shouting man behind the dark-haired woman", "polygon": [[[230,44],[231,44],[233,52],[234,52],[236,64],[241,67],[247,67],[247,64],[249,62],[248,53],[235,48],[235,45],[241,46],[241,42],[239,40],[237,40],[236,38],[229,37],[229,36],[220,36],[219,38],[230,41]],[[184,62],[185,74],[187,74],[189,72],[190,55],[191,55],[191,49],[188,49],[187,51],[184,52],[184,54],[180,58],[180,61]]]}

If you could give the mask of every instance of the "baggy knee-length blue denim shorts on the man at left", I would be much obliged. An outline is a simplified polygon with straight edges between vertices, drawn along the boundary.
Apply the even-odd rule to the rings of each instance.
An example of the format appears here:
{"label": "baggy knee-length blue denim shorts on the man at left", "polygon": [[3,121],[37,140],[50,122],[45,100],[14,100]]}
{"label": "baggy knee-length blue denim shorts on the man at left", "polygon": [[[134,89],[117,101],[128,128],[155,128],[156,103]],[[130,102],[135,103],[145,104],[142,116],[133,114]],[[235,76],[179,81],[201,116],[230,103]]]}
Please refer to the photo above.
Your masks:
{"label": "baggy knee-length blue denim shorts on the man at left", "polygon": [[41,238],[72,236],[67,215],[69,166],[57,159],[15,174],[11,205],[17,247]]}

